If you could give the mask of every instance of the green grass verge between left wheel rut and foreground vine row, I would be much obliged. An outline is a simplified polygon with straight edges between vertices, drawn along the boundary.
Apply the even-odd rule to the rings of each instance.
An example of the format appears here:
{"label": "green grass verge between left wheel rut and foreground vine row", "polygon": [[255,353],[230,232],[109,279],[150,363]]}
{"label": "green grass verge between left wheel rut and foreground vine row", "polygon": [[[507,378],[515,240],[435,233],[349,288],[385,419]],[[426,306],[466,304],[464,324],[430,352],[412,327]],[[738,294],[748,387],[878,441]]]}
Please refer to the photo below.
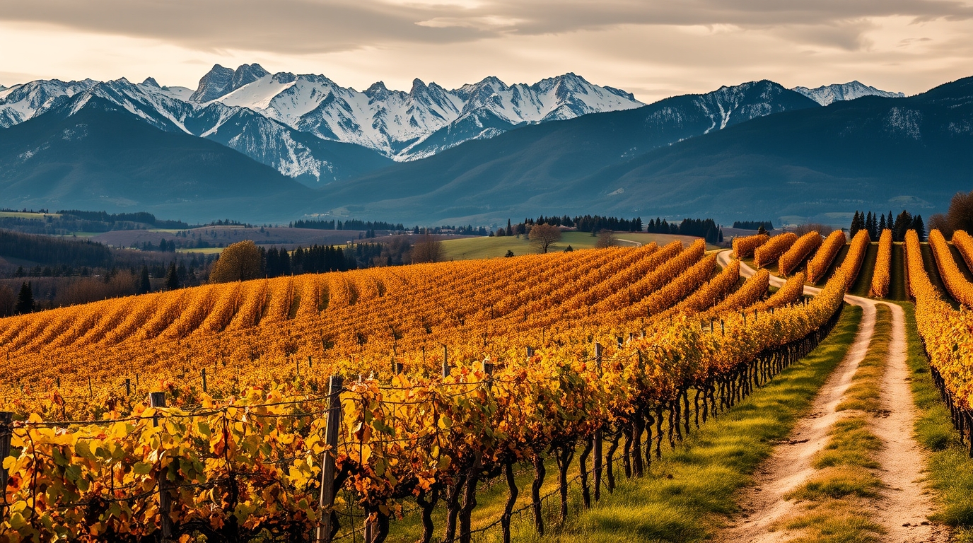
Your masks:
{"label": "green grass verge between left wheel rut and foreground vine row", "polygon": [[752,483],[750,475],[760,462],[807,413],[817,390],[844,358],[860,320],[860,308],[846,308],[838,326],[811,355],[726,415],[707,422],[675,452],[653,460],[650,476],[622,479],[613,494],[544,538],[521,525],[514,539],[702,541],[725,523],[726,515],[738,511],[736,492]]}

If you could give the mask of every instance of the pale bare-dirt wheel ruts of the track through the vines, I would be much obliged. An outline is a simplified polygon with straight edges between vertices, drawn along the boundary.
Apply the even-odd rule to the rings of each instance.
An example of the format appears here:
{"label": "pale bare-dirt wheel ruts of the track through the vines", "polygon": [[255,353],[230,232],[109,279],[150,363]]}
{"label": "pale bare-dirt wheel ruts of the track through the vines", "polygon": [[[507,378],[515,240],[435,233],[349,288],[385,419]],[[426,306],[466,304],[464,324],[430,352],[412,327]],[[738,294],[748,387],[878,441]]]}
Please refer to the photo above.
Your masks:
{"label": "pale bare-dirt wheel ruts of the track through the vines", "polygon": [[[730,252],[721,252],[718,258],[725,264]],[[753,273],[746,265],[740,267],[743,276]],[[772,276],[771,283],[779,285],[782,281]],[[817,292],[817,288],[805,287],[806,294]],[[863,310],[854,344],[821,387],[809,415],[797,423],[788,439],[775,448],[754,474],[754,485],[739,498],[741,513],[717,534],[717,541],[766,543],[787,541],[798,535],[786,530],[771,531],[777,522],[804,512],[802,504],[785,500],[783,496],[814,473],[812,456],[824,448],[828,430],[843,416],[835,408],[868,349],[875,330],[876,306],[884,304],[857,296],[846,296],[845,300]],[[950,537],[948,528],[928,520],[932,505],[922,486],[925,458],[913,437],[916,408],[906,366],[905,314],[898,306],[885,305],[892,311],[892,338],[882,382],[883,416],[876,417],[872,425],[873,433],[883,442],[883,450],[878,455],[883,489],[882,497],[874,500],[874,521],[885,528],[884,541],[946,542]]]}

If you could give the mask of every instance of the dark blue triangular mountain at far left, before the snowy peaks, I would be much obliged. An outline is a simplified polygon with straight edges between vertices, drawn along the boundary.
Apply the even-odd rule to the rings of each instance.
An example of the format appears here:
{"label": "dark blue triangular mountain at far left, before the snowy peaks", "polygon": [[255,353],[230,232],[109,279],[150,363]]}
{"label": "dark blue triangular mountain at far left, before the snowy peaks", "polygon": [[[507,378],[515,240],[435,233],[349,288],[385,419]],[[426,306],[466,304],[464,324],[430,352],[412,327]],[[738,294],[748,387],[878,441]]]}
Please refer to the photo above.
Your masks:
{"label": "dark blue triangular mountain at far left, before the snowy peaks", "polygon": [[289,217],[311,191],[223,145],[151,127],[93,96],[0,130],[0,193],[14,206],[208,221]]}

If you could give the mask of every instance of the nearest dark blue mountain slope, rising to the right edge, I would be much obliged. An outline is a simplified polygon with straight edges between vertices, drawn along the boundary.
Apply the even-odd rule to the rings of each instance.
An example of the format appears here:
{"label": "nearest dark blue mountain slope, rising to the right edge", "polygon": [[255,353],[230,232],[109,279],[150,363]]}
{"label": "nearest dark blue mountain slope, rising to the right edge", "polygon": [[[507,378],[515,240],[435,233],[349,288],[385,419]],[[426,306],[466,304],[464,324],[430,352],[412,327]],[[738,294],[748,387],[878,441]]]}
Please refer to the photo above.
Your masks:
{"label": "nearest dark blue mountain slope, rising to the right edge", "polygon": [[[605,211],[764,213],[845,223],[855,209],[943,210],[973,178],[973,78],[754,120],[565,185],[550,201]],[[616,193],[616,194],[612,194]]]}

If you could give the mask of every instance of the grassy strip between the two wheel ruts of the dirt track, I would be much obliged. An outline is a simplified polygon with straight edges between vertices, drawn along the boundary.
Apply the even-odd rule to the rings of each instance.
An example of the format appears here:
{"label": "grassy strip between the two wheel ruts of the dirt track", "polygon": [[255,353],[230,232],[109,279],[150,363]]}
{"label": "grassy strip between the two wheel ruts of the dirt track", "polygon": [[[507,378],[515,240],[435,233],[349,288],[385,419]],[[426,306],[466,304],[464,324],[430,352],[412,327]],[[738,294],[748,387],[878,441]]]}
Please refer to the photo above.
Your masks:
{"label": "grassy strip between the two wheel ruts of the dirt track", "polygon": [[871,418],[882,411],[882,378],[891,337],[891,309],[878,306],[868,350],[836,408],[847,415],[835,422],[828,444],[814,455],[811,465],[819,471],[784,496],[806,502],[804,514],[781,524],[803,530],[795,542],[880,541],[883,526],[872,522],[870,513],[882,489],[876,474],[882,441],[872,433]]}

